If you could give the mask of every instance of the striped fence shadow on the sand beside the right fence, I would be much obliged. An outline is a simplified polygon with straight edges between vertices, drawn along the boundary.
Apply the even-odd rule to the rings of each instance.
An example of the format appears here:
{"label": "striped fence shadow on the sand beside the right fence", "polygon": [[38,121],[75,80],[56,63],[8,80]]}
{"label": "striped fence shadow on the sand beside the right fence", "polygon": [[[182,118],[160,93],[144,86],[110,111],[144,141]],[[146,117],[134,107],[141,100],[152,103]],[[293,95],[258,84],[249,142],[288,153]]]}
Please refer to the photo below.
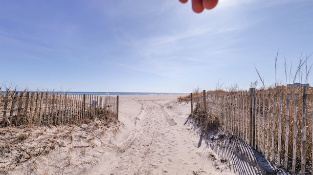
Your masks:
{"label": "striped fence shadow on the sand beside the right fence", "polygon": [[205,126],[199,125],[197,118],[190,115],[184,124],[192,127],[193,131],[200,136],[198,147],[204,144],[209,147],[221,162],[226,163],[228,168],[240,175],[288,175],[285,171],[271,164],[261,153],[253,150],[247,143],[232,136],[223,128],[216,127],[206,130]]}

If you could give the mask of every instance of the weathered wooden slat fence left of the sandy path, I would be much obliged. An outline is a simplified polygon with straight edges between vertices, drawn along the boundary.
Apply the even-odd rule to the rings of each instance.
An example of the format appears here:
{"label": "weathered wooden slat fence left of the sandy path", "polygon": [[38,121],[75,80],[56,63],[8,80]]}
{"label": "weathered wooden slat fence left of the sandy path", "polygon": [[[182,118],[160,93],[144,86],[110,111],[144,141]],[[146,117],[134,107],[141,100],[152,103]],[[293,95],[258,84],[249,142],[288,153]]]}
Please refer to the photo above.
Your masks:
{"label": "weathered wooden slat fence left of the sandy path", "polygon": [[118,120],[118,96],[0,93],[0,127],[75,124],[94,117]]}

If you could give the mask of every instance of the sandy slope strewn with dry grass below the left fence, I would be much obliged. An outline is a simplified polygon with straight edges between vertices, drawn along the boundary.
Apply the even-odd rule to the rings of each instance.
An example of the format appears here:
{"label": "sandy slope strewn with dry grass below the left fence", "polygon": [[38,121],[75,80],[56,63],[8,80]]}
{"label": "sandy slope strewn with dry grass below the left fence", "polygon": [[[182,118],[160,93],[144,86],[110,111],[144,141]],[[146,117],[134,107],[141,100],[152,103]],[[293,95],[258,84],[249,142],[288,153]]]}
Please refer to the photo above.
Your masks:
{"label": "sandy slope strewn with dry grass below the left fence", "polygon": [[96,165],[107,132],[118,126],[104,120],[70,126],[0,128],[0,174],[76,174],[75,166]]}

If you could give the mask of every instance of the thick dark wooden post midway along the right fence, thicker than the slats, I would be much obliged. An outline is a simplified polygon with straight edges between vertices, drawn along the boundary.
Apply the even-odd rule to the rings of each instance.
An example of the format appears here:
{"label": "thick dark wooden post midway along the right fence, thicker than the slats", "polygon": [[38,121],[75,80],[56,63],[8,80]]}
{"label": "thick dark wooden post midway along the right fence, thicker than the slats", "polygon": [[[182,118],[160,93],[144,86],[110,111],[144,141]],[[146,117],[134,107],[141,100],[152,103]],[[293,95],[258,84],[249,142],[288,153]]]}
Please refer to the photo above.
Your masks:
{"label": "thick dark wooden post midway along the right fence, thicker than the slats", "polygon": [[254,122],[255,122],[255,112],[254,112],[254,102],[255,102],[255,88],[250,88],[249,90],[249,117],[250,117],[250,146],[253,147],[254,145]]}

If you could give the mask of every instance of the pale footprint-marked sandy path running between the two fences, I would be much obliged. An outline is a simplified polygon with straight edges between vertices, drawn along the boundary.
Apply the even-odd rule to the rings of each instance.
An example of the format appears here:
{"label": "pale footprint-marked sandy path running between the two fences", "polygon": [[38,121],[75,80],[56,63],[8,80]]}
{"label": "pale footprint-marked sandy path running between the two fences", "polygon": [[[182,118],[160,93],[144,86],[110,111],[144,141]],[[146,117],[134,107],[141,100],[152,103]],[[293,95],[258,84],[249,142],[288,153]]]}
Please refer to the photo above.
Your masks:
{"label": "pale footprint-marked sandy path running between the two fences", "polygon": [[99,165],[92,168],[92,173],[221,174],[221,169],[216,169],[219,165],[213,165],[207,148],[204,145],[198,148],[199,136],[194,136],[190,127],[183,125],[190,105],[175,105],[173,99],[176,97],[155,96],[146,99],[144,96],[121,96],[119,114],[125,126],[116,139],[109,141],[114,152],[105,154]]}

